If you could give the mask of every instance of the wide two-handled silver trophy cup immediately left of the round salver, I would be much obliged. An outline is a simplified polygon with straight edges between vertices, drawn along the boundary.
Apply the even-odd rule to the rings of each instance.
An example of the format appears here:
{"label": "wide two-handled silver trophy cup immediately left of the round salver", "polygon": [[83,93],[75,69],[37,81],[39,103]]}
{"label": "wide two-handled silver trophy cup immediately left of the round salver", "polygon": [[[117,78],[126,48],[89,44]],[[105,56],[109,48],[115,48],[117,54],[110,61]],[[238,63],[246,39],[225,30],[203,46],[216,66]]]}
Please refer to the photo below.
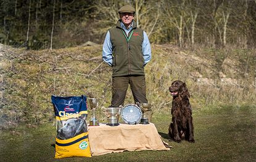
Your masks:
{"label": "wide two-handled silver trophy cup immediately left of the round salver", "polygon": [[107,107],[107,108],[102,107],[101,110],[107,117],[107,125],[109,126],[119,125],[118,120],[119,120],[121,107]]}

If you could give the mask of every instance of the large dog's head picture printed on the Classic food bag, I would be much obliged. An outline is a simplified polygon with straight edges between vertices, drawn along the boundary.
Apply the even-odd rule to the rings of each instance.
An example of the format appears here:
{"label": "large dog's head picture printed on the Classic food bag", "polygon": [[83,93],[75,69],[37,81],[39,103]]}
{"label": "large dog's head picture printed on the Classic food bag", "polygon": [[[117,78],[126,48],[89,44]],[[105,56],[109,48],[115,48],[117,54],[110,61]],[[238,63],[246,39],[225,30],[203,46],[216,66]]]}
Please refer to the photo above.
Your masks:
{"label": "large dog's head picture printed on the Classic food bag", "polygon": [[70,139],[78,134],[85,133],[87,125],[81,118],[69,118],[62,128],[57,131],[58,139]]}

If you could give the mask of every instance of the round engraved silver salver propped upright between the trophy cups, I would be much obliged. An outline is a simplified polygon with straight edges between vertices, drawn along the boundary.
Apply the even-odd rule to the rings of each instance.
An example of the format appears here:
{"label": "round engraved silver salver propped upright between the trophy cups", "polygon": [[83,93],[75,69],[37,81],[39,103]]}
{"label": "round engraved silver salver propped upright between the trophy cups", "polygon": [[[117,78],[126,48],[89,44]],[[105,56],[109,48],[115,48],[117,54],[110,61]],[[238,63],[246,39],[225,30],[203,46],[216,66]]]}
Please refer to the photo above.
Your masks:
{"label": "round engraved silver salver propped upright between the trophy cups", "polygon": [[142,112],[139,106],[135,104],[127,104],[122,107],[121,117],[125,123],[136,125],[141,121]]}

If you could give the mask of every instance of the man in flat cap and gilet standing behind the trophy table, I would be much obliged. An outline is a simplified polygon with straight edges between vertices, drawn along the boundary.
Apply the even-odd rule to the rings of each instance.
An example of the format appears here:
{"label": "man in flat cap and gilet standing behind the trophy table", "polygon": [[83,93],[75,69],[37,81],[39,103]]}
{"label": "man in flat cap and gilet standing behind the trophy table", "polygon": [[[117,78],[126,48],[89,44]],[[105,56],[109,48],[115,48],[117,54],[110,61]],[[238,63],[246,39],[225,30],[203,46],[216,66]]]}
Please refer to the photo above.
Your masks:
{"label": "man in flat cap and gilet standing behind the trophy table", "polygon": [[102,49],[103,60],[113,69],[111,107],[123,106],[128,84],[134,102],[147,103],[144,66],[151,60],[151,45],[133,20],[133,7],[123,6],[118,13],[120,20],[107,31]]}

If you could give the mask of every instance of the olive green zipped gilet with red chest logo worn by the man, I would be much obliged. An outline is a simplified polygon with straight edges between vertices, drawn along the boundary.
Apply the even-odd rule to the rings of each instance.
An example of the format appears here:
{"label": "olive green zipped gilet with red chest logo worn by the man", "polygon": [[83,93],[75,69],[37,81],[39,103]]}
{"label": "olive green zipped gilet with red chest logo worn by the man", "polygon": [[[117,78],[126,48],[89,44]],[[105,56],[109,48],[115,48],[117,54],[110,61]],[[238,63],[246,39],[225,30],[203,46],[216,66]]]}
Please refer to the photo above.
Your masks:
{"label": "olive green zipped gilet with red chest logo worn by the man", "polygon": [[125,37],[121,27],[121,20],[117,26],[110,29],[113,55],[113,77],[124,75],[144,75],[144,58],[142,55],[143,30],[136,27],[133,20],[133,29]]}

